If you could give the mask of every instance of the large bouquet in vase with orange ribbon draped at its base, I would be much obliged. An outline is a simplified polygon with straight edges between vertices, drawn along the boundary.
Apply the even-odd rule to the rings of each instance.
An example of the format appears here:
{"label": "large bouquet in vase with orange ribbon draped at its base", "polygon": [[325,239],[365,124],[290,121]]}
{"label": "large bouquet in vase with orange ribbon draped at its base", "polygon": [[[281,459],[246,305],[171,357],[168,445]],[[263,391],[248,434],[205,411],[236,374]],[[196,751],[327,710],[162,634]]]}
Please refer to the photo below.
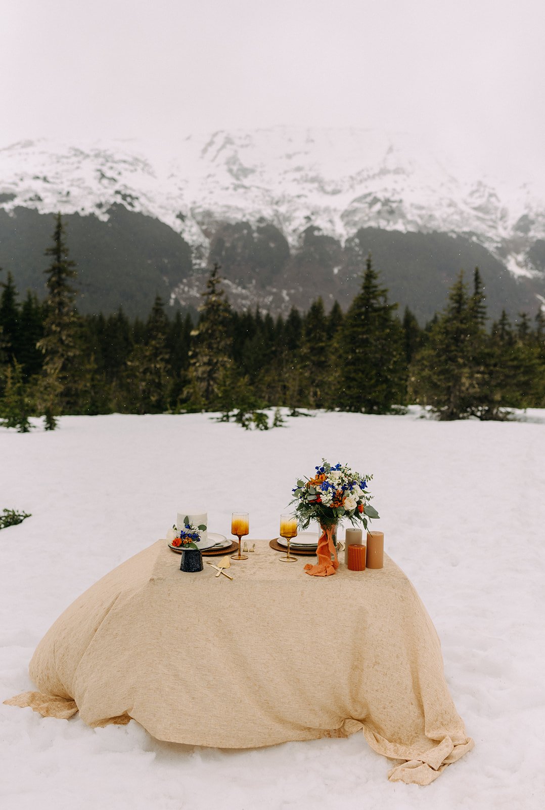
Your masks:
{"label": "large bouquet in vase with orange ribbon draped at its base", "polygon": [[[302,529],[311,520],[319,522],[322,535],[316,554],[318,565],[305,565],[306,573],[327,577],[339,567],[333,535],[341,520],[348,518],[353,525],[362,523],[367,529],[368,521],[378,518],[378,512],[370,505],[372,496],[367,482],[372,475],[361,475],[340,463],[332,466],[322,458],[321,467],[315,467],[312,478],[299,479],[294,487],[294,512]],[[333,559],[332,559],[333,555]]]}

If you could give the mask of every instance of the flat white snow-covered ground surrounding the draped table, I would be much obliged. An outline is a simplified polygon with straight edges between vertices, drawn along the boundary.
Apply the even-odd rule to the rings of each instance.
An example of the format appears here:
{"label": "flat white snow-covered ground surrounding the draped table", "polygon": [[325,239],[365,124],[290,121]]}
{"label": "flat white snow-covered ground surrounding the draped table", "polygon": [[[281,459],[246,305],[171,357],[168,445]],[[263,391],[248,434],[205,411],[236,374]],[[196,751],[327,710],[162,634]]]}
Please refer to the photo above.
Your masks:
{"label": "flat white snow-covered ground surrounding the draped table", "polygon": [[[251,536],[272,537],[294,481],[325,456],[374,473],[387,552],[437,627],[474,751],[421,788],[388,782],[361,734],[220,751],[160,743],[134,721],[93,730],[0,706],[2,807],[543,807],[545,411],[503,424],[420,416],[319,413],[269,433],[201,414],[0,428],[0,510],[32,512],[0,531],[0,701],[32,689],[28,661],[64,608],[163,537],[178,509],[204,501],[223,534],[247,509]],[[277,677],[281,695],[289,673]]]}

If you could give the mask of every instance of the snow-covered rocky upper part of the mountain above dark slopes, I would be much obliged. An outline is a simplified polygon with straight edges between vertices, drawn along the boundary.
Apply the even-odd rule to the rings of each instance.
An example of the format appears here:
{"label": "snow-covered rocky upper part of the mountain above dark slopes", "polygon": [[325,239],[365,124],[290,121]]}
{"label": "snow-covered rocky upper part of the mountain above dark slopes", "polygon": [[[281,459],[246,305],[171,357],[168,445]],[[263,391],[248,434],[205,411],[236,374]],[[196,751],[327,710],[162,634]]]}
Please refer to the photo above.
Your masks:
{"label": "snow-covered rocky upper part of the mountain above dark slopes", "polygon": [[[185,274],[168,283],[185,303],[194,298],[198,271],[212,257],[226,265],[232,295],[248,305],[278,309],[282,302],[306,300],[301,268],[297,273],[293,262],[278,266],[276,254],[267,259],[267,279],[263,273],[253,277],[260,269],[252,265],[260,238],[271,247],[284,240],[289,255],[304,249],[311,237],[329,238],[338,245],[336,251],[328,243],[329,253],[338,256],[325,269],[318,262],[327,278],[315,295],[338,296],[343,279],[350,292],[354,262],[343,251],[361,228],[375,236],[439,232],[462,238],[464,245],[487,251],[492,273],[504,281],[509,275],[518,279],[518,306],[529,301],[531,307],[533,301],[535,308],[545,301],[545,198],[527,183],[509,188],[467,177],[467,169],[408,135],[276,127],[194,134],[171,150],[136,140],[39,140],[0,149],[0,209],[11,218],[27,209],[108,223],[119,207],[158,220],[190,245],[191,278]],[[241,233],[232,227],[241,223],[249,226],[244,256]],[[264,233],[265,225],[272,230]],[[234,268],[225,249],[233,240]],[[0,256],[0,264],[6,266],[6,258]],[[505,268],[509,274],[502,274]]]}

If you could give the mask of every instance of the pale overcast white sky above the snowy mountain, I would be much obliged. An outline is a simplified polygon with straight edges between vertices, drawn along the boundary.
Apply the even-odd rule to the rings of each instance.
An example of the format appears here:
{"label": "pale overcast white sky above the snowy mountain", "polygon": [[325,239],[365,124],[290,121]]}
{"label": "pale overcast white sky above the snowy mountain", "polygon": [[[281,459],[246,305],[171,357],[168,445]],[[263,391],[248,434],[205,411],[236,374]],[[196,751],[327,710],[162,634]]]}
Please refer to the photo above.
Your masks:
{"label": "pale overcast white sky above the snowy mountain", "polygon": [[0,146],[422,132],[545,182],[543,0],[0,0]]}

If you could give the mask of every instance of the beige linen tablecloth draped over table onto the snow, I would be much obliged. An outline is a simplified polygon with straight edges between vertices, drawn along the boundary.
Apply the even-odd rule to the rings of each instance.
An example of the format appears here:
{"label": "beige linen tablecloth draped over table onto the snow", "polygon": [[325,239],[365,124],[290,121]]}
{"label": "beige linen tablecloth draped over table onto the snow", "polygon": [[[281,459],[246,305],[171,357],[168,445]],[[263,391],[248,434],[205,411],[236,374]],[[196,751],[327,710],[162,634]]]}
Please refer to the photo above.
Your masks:
{"label": "beige linen tablecloth draped over table onto the snow", "polygon": [[[234,581],[180,572],[158,540],[91,586],[30,663],[39,692],[10,702],[100,726],[134,718],[159,740],[251,748],[363,728],[427,784],[473,747],[424,605],[386,557],[382,570],[309,577],[265,541]],[[218,558],[209,558],[217,561]],[[218,711],[218,701],[226,709]]]}

